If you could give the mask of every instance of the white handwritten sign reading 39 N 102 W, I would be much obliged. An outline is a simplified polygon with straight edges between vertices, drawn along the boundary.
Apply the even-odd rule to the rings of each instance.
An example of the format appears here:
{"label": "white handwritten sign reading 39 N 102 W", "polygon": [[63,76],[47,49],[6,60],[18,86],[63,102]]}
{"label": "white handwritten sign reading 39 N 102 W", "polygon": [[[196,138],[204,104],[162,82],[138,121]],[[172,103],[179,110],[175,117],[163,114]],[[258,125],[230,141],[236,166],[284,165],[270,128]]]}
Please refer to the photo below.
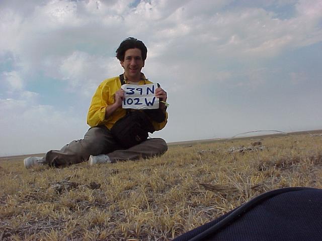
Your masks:
{"label": "white handwritten sign reading 39 N 102 W", "polygon": [[123,84],[121,87],[125,91],[125,98],[122,103],[124,109],[157,109],[159,99],[155,97],[157,84]]}

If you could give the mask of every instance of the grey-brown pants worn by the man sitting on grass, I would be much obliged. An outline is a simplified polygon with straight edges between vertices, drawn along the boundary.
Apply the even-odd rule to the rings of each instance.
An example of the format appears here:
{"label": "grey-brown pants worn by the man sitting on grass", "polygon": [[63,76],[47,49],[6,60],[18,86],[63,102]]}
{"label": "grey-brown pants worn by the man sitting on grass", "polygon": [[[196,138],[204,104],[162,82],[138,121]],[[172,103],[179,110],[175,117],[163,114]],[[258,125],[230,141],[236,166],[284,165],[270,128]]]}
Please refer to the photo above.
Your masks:
{"label": "grey-brown pants worn by the man sitting on grass", "polygon": [[112,162],[135,160],[160,156],[168,150],[167,143],[160,138],[151,138],[124,149],[114,140],[111,132],[105,127],[90,128],[84,139],[72,141],[61,150],[51,150],[46,153],[44,164],[49,166],[68,166],[85,162],[90,155],[108,154]]}

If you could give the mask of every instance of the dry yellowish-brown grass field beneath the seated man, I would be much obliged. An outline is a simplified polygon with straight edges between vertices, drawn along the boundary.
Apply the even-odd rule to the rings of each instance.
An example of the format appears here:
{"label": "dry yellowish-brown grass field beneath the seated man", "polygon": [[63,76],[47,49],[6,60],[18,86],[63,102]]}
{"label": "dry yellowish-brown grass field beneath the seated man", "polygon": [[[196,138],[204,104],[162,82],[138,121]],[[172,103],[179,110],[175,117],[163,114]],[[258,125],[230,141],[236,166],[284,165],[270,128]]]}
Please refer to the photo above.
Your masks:
{"label": "dry yellowish-brown grass field beneath the seated man", "polygon": [[320,133],[191,142],[94,167],[2,158],[0,240],[171,240],[263,192],[322,188]]}

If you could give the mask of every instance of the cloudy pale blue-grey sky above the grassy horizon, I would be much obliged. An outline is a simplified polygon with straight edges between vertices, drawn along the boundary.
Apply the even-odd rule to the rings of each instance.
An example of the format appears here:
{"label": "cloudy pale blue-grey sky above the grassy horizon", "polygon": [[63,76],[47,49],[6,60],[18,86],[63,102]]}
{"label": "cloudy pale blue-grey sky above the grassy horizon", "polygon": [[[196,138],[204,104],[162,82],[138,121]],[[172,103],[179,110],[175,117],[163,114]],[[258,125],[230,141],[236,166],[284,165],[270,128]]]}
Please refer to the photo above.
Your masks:
{"label": "cloudy pale blue-grey sky above the grassy horizon", "polygon": [[321,0],[0,1],[0,156],[83,138],[127,37],[168,92],[167,142],[322,129]]}

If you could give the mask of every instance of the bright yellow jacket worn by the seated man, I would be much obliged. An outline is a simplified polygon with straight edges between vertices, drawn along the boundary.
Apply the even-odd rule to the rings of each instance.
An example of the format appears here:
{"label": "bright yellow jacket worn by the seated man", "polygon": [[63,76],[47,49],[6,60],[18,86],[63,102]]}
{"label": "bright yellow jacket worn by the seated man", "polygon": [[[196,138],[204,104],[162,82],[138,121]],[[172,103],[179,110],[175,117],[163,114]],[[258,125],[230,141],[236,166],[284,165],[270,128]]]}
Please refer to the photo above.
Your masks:
{"label": "bright yellow jacket worn by the seated man", "polygon": [[[125,80],[126,81],[126,80]],[[142,79],[138,82],[141,84],[151,84],[149,80],[142,74]],[[106,107],[115,102],[115,92],[121,88],[120,77],[112,77],[104,80],[97,88],[95,94],[92,97],[89,112],[87,114],[87,124],[90,127],[97,127],[104,125],[108,129],[111,129],[113,125],[126,114],[126,110],[123,108],[116,109],[111,116],[105,119]],[[156,123],[152,121],[152,125],[155,131],[163,129],[168,122],[168,113],[166,111],[166,119],[162,123]]]}

